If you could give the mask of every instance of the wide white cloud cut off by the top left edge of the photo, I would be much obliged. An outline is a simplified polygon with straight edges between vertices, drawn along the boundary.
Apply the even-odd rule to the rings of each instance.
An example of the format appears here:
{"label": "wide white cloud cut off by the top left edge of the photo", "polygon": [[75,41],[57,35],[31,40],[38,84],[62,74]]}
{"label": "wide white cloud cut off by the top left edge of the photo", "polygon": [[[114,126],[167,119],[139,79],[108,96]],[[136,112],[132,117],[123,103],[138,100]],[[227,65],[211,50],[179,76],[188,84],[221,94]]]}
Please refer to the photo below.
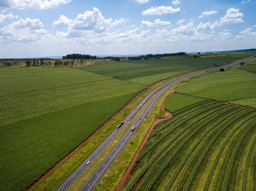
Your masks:
{"label": "wide white cloud cut off by the top left edge of the photo", "polygon": [[3,7],[11,7],[14,9],[26,9],[33,7],[36,9],[51,9],[61,4],[67,4],[71,0],[2,0]]}

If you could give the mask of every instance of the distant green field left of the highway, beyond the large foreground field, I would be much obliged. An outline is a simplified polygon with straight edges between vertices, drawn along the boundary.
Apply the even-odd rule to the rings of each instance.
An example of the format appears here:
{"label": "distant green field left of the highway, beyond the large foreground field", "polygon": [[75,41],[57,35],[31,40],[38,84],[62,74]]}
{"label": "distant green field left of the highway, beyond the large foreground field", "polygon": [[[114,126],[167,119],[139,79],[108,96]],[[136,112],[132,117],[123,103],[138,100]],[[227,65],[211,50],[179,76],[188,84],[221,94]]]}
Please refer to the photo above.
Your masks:
{"label": "distant green field left of the highway, beyond the large foreground field", "polygon": [[237,60],[237,58],[225,56],[211,58],[128,60],[120,62],[97,61],[94,65],[80,67],[80,69],[116,79],[151,85],[171,76],[212,67],[214,64],[225,64],[235,60]]}

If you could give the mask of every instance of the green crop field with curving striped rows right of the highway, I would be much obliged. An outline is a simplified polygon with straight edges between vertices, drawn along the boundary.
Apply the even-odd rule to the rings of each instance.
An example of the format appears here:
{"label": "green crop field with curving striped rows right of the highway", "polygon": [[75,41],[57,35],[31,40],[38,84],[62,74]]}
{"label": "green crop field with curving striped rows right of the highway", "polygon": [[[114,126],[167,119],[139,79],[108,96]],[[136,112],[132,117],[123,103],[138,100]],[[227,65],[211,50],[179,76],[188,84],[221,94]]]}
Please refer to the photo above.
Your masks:
{"label": "green crop field with curving striped rows right of the highway", "polygon": [[[234,183],[247,189],[247,180],[255,179],[247,177],[255,117],[255,110],[213,101],[178,110],[150,134],[126,190],[230,190]],[[233,175],[237,171],[241,180]]]}

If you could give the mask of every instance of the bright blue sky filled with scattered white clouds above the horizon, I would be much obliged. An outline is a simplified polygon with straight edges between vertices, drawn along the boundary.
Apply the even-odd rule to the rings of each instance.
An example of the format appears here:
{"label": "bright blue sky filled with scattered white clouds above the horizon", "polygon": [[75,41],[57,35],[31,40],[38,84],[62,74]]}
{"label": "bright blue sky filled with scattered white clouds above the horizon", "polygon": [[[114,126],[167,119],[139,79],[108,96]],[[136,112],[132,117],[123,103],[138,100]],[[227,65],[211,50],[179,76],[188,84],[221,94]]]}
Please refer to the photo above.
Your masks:
{"label": "bright blue sky filled with scattered white clouds above the horizon", "polygon": [[0,0],[0,58],[256,48],[256,0]]}

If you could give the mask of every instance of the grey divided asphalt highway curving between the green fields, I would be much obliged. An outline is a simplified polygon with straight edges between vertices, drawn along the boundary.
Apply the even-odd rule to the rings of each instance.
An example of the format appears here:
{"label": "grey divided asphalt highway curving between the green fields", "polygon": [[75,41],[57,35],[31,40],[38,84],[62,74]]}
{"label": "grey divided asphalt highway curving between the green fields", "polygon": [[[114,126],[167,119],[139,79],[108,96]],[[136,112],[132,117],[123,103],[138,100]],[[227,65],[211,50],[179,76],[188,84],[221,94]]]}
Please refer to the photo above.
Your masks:
{"label": "grey divided asphalt highway curving between the green fields", "polygon": [[[233,66],[233,65],[237,65],[240,64],[241,61],[243,62],[247,62],[247,61],[251,61],[253,59],[256,59],[256,57],[252,57],[249,59],[243,59],[243,60],[239,60],[239,61],[235,61],[229,64],[225,64],[222,66],[218,66],[215,68],[210,68],[207,70],[201,70],[201,71],[197,71],[197,72],[193,72],[191,74],[188,75],[184,75],[182,77],[173,79],[167,83],[165,83],[164,85],[160,86],[159,88],[156,88],[155,90],[153,90],[150,94],[148,94],[147,97],[145,97],[144,100],[141,101],[141,103],[139,103],[139,105],[137,105],[137,107],[126,117],[126,119],[124,120],[124,124],[119,128],[115,128],[115,130],[108,136],[108,138],[106,138],[105,141],[103,141],[103,143],[101,143],[101,145],[99,147],[97,147],[97,149],[95,149],[92,154],[75,170],[72,172],[72,174],[56,189],[56,191],[65,191],[67,190],[70,185],[81,175],[81,173],[90,165],[87,165],[86,163],[88,161],[90,161],[90,163],[93,162],[93,160],[100,154],[100,152],[106,147],[106,145],[108,145],[108,143],[110,143],[110,141],[117,135],[117,133],[120,131],[120,129],[126,125],[126,123],[128,123],[128,121],[130,121],[132,119],[132,117],[135,116],[135,114],[139,111],[139,109],[141,107],[143,107],[143,105],[151,98],[153,97],[154,94],[155,97],[150,101],[150,103],[148,103],[148,106],[140,113],[139,117],[137,118],[137,120],[135,121],[133,125],[135,125],[135,130],[133,132],[131,132],[130,130],[128,130],[128,132],[126,132],[126,134],[124,135],[124,137],[121,139],[121,141],[117,144],[117,146],[111,151],[111,153],[108,155],[108,157],[103,161],[103,163],[100,165],[100,167],[95,171],[95,173],[91,176],[91,178],[88,180],[88,182],[85,183],[85,185],[83,186],[83,188],[81,189],[81,191],[91,191],[94,189],[94,187],[97,185],[97,183],[99,182],[99,180],[102,178],[103,174],[107,171],[108,167],[110,167],[110,165],[112,164],[112,162],[115,160],[115,158],[117,158],[118,154],[121,152],[121,150],[124,148],[124,146],[126,145],[126,143],[129,141],[129,139],[131,138],[132,134],[136,131],[137,127],[139,126],[139,124],[141,123],[141,121],[143,121],[142,119],[146,116],[146,114],[148,114],[149,110],[152,108],[152,106],[154,105],[154,103],[157,101],[157,99],[166,91],[166,89],[170,88],[171,86],[174,86],[176,83],[179,83],[180,81],[187,79],[189,77],[198,75],[198,74],[202,74],[204,72],[209,72],[212,70],[219,70],[220,68],[224,68],[227,66]],[[131,126],[131,127],[132,127]]]}

